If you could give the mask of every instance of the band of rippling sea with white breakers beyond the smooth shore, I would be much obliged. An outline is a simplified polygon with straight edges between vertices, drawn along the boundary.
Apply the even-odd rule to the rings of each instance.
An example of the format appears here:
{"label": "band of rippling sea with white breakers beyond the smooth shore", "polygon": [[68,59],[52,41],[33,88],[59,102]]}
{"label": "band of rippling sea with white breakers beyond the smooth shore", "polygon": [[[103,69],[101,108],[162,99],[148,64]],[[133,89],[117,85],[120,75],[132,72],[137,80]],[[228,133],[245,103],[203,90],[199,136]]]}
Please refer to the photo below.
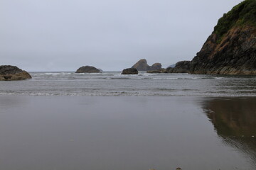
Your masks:
{"label": "band of rippling sea with white breakers beyond the smooth shore", "polygon": [[256,96],[255,76],[122,75],[32,72],[26,81],[0,81],[0,95],[29,96]]}

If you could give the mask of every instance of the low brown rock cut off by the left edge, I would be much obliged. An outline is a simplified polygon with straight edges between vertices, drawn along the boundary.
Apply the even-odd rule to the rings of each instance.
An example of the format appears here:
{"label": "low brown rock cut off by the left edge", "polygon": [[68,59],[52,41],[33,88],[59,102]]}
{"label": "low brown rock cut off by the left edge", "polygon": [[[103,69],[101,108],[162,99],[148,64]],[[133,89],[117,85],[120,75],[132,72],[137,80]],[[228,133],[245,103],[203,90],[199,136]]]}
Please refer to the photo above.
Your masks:
{"label": "low brown rock cut off by the left edge", "polygon": [[10,80],[23,80],[31,79],[31,75],[28,72],[19,69],[16,66],[11,65],[1,65],[0,66],[0,81],[10,81]]}

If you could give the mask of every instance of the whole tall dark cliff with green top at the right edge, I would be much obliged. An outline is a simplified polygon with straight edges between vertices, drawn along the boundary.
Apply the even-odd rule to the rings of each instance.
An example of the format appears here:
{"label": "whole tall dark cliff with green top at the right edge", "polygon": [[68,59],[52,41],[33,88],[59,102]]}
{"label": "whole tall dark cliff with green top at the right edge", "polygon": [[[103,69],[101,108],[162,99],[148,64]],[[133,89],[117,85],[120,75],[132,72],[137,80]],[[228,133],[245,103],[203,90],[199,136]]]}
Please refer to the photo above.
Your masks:
{"label": "whole tall dark cliff with green top at the right edge", "polygon": [[191,74],[256,74],[256,1],[245,0],[219,19],[191,61]]}

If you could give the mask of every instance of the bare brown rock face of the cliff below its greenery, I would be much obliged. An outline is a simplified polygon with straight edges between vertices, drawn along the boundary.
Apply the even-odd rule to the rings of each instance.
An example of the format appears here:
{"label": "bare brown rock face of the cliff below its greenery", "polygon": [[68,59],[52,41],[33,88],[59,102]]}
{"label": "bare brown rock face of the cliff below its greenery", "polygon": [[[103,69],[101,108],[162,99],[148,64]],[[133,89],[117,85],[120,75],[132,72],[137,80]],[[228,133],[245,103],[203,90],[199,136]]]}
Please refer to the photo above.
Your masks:
{"label": "bare brown rock face of the cliff below its greenery", "polygon": [[210,35],[191,62],[192,74],[256,74],[256,28],[236,27],[216,43]]}

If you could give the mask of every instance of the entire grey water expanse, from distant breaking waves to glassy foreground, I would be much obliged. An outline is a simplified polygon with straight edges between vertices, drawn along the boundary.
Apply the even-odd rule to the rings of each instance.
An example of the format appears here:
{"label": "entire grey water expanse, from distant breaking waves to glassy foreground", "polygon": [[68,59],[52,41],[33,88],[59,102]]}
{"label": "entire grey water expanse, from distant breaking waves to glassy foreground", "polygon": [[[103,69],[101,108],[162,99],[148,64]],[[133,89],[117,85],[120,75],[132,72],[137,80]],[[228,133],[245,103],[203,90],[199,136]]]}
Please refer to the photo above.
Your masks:
{"label": "entire grey water expanse, from distant breaking waves to glassy foreground", "polygon": [[30,74],[0,81],[0,169],[256,169],[256,77]]}

